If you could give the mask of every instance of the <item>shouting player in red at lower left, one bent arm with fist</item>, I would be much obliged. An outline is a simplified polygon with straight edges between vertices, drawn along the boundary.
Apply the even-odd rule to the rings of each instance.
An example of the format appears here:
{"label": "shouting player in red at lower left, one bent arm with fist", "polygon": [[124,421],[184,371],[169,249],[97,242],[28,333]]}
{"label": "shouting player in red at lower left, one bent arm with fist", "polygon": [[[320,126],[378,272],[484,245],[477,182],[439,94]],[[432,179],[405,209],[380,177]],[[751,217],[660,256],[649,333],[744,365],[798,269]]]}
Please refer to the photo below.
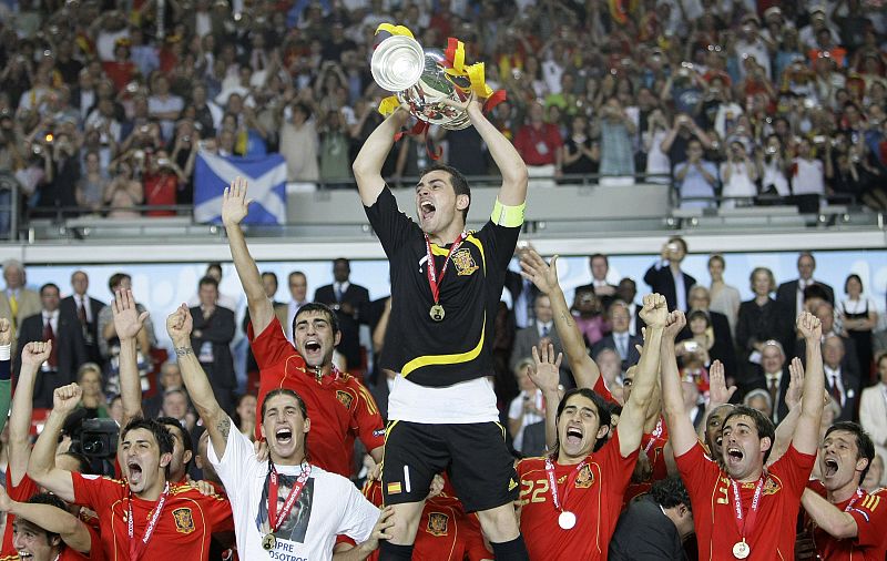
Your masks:
{"label": "shouting player in red at lower left, one bent arm with fist", "polygon": [[169,482],[173,438],[163,425],[136,418],[121,430],[118,457],[123,480],[81,476],[54,466],[55,442],[81,394],[77,384],[55,389],[28,475],[63,500],[99,514],[105,557],[208,559],[210,534],[234,528],[231,504],[217,494],[203,496],[190,484]]}

